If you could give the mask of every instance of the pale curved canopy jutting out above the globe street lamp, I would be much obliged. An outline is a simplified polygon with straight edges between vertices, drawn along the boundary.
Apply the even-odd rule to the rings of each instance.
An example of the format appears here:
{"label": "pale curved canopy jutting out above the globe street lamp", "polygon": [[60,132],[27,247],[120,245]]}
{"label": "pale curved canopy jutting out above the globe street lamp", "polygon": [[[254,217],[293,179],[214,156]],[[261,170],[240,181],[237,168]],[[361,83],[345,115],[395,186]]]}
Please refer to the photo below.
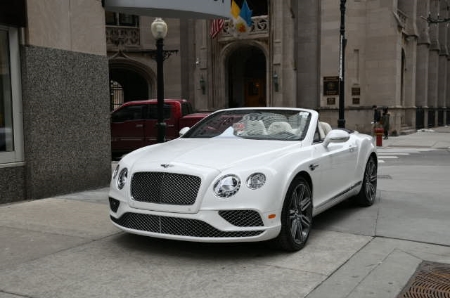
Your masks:
{"label": "pale curved canopy jutting out above the globe street lamp", "polygon": [[103,0],[106,10],[178,19],[230,18],[231,0]]}

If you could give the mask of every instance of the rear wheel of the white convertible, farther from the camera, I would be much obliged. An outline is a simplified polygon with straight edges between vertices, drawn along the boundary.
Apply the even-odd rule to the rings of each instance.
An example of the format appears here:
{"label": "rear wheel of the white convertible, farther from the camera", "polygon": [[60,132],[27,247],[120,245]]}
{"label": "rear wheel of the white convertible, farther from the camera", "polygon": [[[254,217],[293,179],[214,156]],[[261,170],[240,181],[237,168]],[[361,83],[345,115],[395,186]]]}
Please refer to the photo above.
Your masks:
{"label": "rear wheel of the white convertible, farther from the camera", "polygon": [[364,178],[361,190],[354,197],[355,203],[360,206],[372,206],[377,196],[377,162],[373,156],[369,158],[364,170]]}

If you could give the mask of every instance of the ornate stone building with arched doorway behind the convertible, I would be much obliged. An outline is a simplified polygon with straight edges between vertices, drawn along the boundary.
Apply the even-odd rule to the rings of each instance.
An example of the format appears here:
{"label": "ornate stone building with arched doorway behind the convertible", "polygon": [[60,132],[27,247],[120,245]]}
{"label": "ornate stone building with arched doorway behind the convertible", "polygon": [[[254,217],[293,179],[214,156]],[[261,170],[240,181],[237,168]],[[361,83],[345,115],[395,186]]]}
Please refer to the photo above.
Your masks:
{"label": "ornate stone building with arched doorway behind the convertible", "polygon": [[[239,6],[242,2],[236,0]],[[209,34],[210,20],[166,20],[166,49],[177,51],[165,61],[166,97],[189,99],[202,111],[313,108],[337,126],[343,92],[350,129],[370,133],[373,105],[389,108],[391,134],[449,124],[449,29],[446,22],[426,20],[448,17],[448,1],[347,0],[344,90],[338,88],[339,1],[247,2],[253,10],[248,34],[236,34],[228,20],[216,38]],[[133,99],[156,95],[156,64],[148,54],[154,48],[149,29],[153,18],[138,19],[133,29],[107,25],[107,35],[113,37],[107,42],[110,75],[123,88],[125,101],[129,82],[117,73],[131,71],[140,77],[132,81],[142,86],[131,89],[145,92],[133,94]]]}

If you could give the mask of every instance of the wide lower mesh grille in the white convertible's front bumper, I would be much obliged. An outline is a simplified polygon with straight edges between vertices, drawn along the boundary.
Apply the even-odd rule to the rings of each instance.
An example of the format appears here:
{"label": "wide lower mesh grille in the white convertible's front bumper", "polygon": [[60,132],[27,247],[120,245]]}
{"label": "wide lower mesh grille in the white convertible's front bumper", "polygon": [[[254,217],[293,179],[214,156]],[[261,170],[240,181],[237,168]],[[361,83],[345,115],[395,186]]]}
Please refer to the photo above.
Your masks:
{"label": "wide lower mesh grille in the white convertible's front bumper", "polygon": [[125,213],[120,218],[111,216],[116,224],[138,231],[147,231],[159,234],[190,236],[199,238],[236,238],[252,237],[264,231],[220,231],[213,226],[197,219],[166,217],[159,215]]}

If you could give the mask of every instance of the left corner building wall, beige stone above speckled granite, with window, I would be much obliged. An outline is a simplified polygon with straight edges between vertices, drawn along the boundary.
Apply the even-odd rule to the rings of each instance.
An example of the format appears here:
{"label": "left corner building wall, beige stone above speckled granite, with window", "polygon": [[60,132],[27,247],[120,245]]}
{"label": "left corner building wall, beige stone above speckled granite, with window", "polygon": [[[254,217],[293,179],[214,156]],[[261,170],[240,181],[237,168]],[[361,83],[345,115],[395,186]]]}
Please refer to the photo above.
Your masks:
{"label": "left corner building wall, beige stone above speckled granite, with window", "polygon": [[101,1],[0,2],[0,203],[108,184],[108,71]]}

